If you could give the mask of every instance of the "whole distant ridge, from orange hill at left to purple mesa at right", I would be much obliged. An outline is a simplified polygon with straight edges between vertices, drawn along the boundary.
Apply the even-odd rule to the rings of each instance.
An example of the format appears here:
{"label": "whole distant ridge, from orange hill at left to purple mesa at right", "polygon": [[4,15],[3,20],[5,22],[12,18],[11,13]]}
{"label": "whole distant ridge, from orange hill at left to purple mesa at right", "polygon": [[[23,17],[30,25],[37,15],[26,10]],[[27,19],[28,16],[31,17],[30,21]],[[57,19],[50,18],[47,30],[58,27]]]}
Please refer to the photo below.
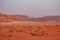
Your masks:
{"label": "whole distant ridge, from orange hill at left to purple mesa at right", "polygon": [[0,13],[0,21],[60,22],[60,16],[45,16],[39,18],[29,18],[26,15],[6,15]]}

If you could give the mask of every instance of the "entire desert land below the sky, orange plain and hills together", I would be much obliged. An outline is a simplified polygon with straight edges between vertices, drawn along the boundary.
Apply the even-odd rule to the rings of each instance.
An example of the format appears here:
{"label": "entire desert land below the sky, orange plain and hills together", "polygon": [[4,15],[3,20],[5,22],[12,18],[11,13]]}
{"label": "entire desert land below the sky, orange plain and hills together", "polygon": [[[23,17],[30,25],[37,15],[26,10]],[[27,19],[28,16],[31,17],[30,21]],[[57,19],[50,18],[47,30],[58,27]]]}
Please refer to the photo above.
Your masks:
{"label": "entire desert land below the sky, orange plain and hills together", "polygon": [[0,14],[0,40],[60,40],[59,16],[45,20],[26,17]]}

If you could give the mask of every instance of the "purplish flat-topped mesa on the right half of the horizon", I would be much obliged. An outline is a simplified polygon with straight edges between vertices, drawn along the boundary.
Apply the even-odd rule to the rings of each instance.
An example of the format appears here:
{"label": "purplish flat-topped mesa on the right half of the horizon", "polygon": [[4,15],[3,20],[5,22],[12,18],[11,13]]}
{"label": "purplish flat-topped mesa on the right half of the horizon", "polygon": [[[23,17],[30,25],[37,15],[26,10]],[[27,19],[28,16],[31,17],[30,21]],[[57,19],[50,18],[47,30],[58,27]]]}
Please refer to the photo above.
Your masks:
{"label": "purplish flat-topped mesa on the right half of the horizon", "polygon": [[41,17],[41,18],[32,18],[31,21],[60,22],[60,16],[45,16],[45,17]]}

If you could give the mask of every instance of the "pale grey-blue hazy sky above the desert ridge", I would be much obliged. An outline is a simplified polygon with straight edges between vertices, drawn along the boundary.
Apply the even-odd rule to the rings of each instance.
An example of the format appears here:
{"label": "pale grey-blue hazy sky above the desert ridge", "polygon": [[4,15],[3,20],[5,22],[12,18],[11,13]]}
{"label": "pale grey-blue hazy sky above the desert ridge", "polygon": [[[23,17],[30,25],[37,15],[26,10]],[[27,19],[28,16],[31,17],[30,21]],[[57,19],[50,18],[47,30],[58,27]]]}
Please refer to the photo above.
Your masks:
{"label": "pale grey-blue hazy sky above the desert ridge", "polygon": [[0,12],[31,17],[60,15],[60,0],[0,0]]}

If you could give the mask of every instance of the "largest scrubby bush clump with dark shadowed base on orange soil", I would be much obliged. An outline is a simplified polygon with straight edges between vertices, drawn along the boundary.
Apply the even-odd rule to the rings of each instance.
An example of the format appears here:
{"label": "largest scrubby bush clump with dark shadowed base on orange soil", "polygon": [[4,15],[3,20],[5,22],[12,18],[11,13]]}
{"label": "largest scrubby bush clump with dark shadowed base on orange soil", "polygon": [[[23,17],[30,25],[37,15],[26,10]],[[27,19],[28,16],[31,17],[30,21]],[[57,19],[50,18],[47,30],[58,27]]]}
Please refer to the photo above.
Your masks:
{"label": "largest scrubby bush clump with dark shadowed base on orange soil", "polygon": [[45,31],[41,30],[41,26],[29,26],[28,32],[32,36],[43,36],[45,34]]}

